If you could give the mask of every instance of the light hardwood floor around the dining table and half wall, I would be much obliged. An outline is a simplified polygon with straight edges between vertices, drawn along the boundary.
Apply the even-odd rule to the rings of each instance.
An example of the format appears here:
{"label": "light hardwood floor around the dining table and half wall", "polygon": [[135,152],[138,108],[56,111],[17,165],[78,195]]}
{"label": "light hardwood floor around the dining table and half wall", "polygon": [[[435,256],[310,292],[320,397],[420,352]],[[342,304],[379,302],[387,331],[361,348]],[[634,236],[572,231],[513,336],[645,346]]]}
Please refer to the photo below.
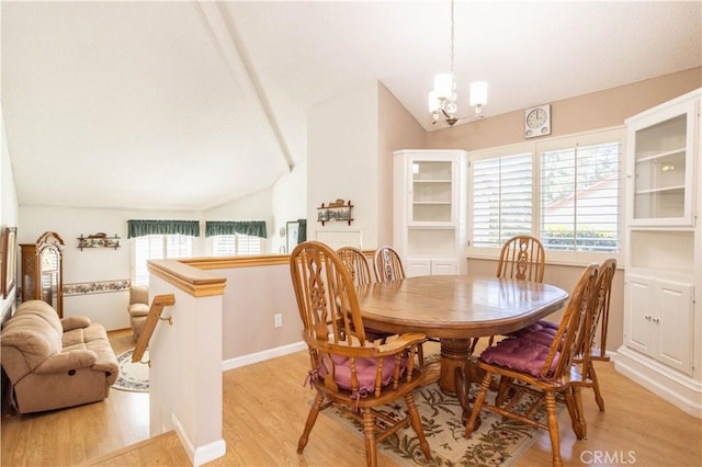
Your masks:
{"label": "light hardwood floor around the dining table and half wall", "polygon": [[[111,341],[115,352],[133,345],[128,331],[111,333]],[[313,398],[303,387],[307,363],[306,352],[297,352],[223,374],[227,454],[210,466],[364,464],[363,441],[326,417],[318,418],[304,454],[296,454]],[[573,434],[567,411],[562,412],[562,454],[567,465],[702,465],[702,420],[619,375],[613,363],[596,365],[607,411],[598,411],[591,391],[584,394],[589,436],[581,441]],[[104,402],[3,417],[1,431],[2,466],[189,465],[172,432],[147,440],[145,394],[112,390]],[[518,466],[550,464],[551,444],[544,431]],[[380,455],[378,465],[396,464]]]}

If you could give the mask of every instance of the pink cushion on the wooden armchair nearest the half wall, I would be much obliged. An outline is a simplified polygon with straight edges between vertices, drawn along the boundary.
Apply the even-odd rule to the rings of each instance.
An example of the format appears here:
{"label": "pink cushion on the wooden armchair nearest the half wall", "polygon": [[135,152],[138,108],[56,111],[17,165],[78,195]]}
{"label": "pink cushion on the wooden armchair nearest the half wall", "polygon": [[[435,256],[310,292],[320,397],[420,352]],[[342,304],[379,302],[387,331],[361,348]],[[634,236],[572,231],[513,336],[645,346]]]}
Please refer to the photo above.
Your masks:
{"label": "pink cushion on the wooden armchair nearest the half wall", "polygon": [[[351,358],[341,355],[331,355],[333,361],[335,373],[333,379],[341,388],[352,390],[351,386]],[[377,375],[376,358],[355,358],[355,369],[359,378],[359,391],[375,391],[375,377]],[[405,375],[407,362],[403,358],[400,363],[400,376]],[[383,371],[381,376],[381,386],[386,386],[393,381],[395,372],[395,361],[393,357],[383,358]],[[326,376],[326,366],[319,366],[319,374]]]}

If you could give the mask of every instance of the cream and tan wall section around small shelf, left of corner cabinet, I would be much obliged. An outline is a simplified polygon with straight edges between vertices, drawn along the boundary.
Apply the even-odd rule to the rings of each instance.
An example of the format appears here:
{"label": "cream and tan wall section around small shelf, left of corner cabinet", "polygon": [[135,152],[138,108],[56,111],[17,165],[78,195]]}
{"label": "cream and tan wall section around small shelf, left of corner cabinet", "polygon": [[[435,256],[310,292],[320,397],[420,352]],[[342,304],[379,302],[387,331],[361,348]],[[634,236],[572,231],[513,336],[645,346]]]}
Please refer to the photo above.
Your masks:
{"label": "cream and tan wall section around small shelf, left of corner cabinet", "polygon": [[[361,248],[393,239],[393,151],[421,148],[424,130],[395,96],[373,81],[315,106],[308,118],[307,238],[361,232]],[[317,207],[353,202],[353,223],[317,223]],[[342,234],[340,234],[340,237]]]}

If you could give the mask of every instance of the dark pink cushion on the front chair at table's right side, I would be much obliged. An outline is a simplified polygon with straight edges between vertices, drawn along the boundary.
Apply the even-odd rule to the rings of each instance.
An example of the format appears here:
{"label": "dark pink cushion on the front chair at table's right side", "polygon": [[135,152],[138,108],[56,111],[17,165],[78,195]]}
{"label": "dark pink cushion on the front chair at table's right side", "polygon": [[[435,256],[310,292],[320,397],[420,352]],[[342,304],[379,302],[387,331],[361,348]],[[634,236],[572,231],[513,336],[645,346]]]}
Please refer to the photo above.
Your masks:
{"label": "dark pink cushion on the front chair at table's right side", "polygon": [[[528,373],[532,376],[540,377],[541,368],[543,368],[550,351],[548,345],[544,345],[536,341],[525,338],[506,339],[487,348],[480,358],[494,365],[505,366],[518,372]],[[551,369],[555,369],[558,363],[559,354],[551,364]]]}

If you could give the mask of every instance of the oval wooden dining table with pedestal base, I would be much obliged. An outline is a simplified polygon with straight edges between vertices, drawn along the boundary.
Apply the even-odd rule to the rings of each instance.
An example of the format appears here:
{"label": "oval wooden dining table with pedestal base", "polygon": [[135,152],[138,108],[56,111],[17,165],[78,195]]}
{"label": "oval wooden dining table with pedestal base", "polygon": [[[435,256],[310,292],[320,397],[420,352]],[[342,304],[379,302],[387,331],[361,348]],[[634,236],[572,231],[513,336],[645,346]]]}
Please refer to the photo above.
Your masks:
{"label": "oval wooden dining table with pedestal base", "polygon": [[429,275],[356,288],[363,323],[380,331],[421,332],[441,342],[439,387],[455,395],[474,338],[506,334],[559,310],[568,293],[548,284],[469,275]]}

